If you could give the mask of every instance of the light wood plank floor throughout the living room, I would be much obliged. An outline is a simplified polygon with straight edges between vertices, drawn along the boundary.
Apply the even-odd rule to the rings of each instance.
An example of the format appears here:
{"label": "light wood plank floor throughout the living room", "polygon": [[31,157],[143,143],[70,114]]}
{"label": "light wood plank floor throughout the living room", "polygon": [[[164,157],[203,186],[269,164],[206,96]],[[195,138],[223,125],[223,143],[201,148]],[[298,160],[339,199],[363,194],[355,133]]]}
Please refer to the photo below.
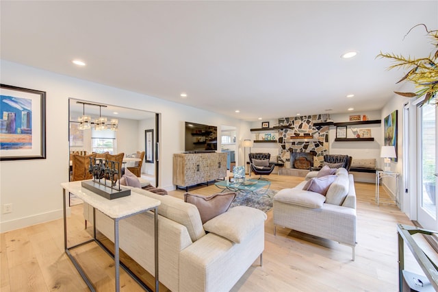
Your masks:
{"label": "light wood plank floor throughout the living room", "polygon": [[[302,178],[270,175],[271,188],[296,186]],[[355,184],[357,191],[356,260],[351,248],[333,241],[277,228],[273,234],[272,210],[266,221],[263,266],[256,260],[235,284],[232,291],[397,291],[398,243],[396,224],[413,225],[394,205],[374,202],[374,184]],[[191,188],[209,195],[216,186]],[[170,195],[183,197],[184,191]],[[60,191],[61,194],[61,191]],[[385,196],[382,189],[381,196]],[[68,245],[90,238],[84,230],[82,206],[72,207],[68,218]],[[90,228],[88,228],[90,229]],[[1,283],[7,291],[88,291],[79,273],[64,253],[62,219],[0,234]],[[98,291],[114,291],[114,262],[100,247],[85,245],[73,254]],[[415,265],[407,258],[406,265]],[[134,267],[138,274],[145,274]],[[413,267],[413,271],[420,271]],[[146,278],[150,276],[145,276]],[[149,280],[146,280],[149,282]],[[140,291],[138,284],[124,272],[121,291]],[[160,287],[166,291],[166,287]]]}

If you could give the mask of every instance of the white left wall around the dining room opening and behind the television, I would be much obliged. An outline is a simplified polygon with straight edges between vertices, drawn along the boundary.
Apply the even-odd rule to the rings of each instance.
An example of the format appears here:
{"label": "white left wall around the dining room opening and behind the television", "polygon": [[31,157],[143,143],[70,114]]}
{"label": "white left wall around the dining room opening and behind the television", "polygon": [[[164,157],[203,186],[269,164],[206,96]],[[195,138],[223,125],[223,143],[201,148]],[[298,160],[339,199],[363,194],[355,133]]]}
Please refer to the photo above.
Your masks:
{"label": "white left wall around the dining room opening and behind the television", "polygon": [[[79,80],[1,60],[1,83],[47,93],[47,159],[0,162],[0,232],[62,217],[61,182],[68,181],[68,98],[136,108],[161,114],[159,186],[172,189],[172,154],[183,150],[183,122],[234,125],[237,133],[248,123],[189,106],[110,86]],[[246,126],[245,126],[246,125]],[[138,133],[140,130],[136,130]],[[144,134],[143,134],[144,135]],[[127,136],[127,138],[139,137]],[[220,147],[220,145],[218,145]],[[133,152],[137,149],[131,149]]]}

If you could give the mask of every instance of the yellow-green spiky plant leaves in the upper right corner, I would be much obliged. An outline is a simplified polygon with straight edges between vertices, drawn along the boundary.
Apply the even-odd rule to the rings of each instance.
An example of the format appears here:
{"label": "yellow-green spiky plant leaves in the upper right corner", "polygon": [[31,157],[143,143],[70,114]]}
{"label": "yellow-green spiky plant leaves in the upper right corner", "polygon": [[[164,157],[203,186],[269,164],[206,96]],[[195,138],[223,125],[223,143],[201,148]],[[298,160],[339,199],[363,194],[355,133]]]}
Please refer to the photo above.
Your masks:
{"label": "yellow-green spiky plant leaves in the upper right corner", "polygon": [[[429,31],[426,25],[422,23],[415,25],[414,27],[417,27],[419,25],[424,26],[428,36],[430,36],[433,41],[435,41],[433,45],[438,48],[438,30]],[[409,32],[411,32],[414,27],[409,29]],[[409,32],[407,33],[407,35],[409,34]],[[400,83],[402,81],[413,82],[413,84],[415,84],[415,87],[417,88],[417,91],[415,93],[399,93],[394,91],[394,93],[402,95],[404,97],[415,97],[415,99],[426,95],[424,97],[424,100],[421,101],[420,106],[428,104],[429,102],[435,102],[435,104],[437,104],[435,97],[438,91],[438,50],[435,51],[435,53],[430,53],[429,56],[426,58],[413,59],[411,58],[411,56],[406,58],[404,56],[396,55],[394,53],[382,52],[379,53],[377,57],[389,58],[394,61],[395,64],[389,66],[388,69],[409,69],[409,72],[404,75],[402,79],[399,80],[397,83]]]}

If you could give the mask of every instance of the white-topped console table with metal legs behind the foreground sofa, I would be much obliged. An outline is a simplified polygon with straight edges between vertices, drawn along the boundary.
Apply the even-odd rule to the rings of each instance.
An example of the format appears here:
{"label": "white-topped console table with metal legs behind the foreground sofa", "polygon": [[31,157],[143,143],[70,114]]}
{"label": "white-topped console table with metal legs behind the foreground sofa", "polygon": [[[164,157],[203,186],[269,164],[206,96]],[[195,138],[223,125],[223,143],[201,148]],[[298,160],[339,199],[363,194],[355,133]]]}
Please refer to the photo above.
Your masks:
{"label": "white-topped console table with metal legs behind the foreground sofa", "polygon": [[[99,246],[103,247],[105,251],[108,252],[106,247],[96,239],[96,209],[101,211],[107,217],[110,217],[114,221],[114,263],[115,263],[115,276],[116,276],[116,291],[120,291],[120,259],[119,259],[119,241],[118,241],[118,223],[121,219],[125,219],[127,217],[131,217],[133,215],[140,214],[142,212],[147,212],[149,210],[153,210],[154,212],[154,239],[155,239],[155,291],[158,292],[158,206],[161,202],[157,199],[152,199],[150,197],[146,197],[144,195],[140,195],[139,193],[131,192],[131,195],[127,197],[120,197],[118,199],[106,199],[105,197],[101,197],[92,191],[89,191],[87,188],[83,188],[81,186],[81,181],[78,182],[63,182],[62,186],[62,199],[64,204],[64,249],[65,252],[72,261],[73,265],[75,265],[77,271],[83,278],[83,280],[88,285],[91,291],[95,291],[90,279],[86,276],[86,273],[83,271],[77,260],[70,254],[70,250],[73,250],[75,247],[79,247],[81,245],[85,245],[87,243],[95,242]],[[67,220],[66,220],[66,195],[68,193],[73,193],[77,195],[83,202],[88,203],[93,208],[93,239],[89,241],[85,241],[83,243],[79,243],[72,247],[67,246]],[[110,253],[110,252],[108,252]],[[110,254],[112,255],[112,254]],[[127,271],[131,276],[133,274],[130,271]],[[137,282],[138,278],[134,278]],[[139,284],[142,284],[140,281]],[[147,287],[142,284],[142,287],[147,289]]]}

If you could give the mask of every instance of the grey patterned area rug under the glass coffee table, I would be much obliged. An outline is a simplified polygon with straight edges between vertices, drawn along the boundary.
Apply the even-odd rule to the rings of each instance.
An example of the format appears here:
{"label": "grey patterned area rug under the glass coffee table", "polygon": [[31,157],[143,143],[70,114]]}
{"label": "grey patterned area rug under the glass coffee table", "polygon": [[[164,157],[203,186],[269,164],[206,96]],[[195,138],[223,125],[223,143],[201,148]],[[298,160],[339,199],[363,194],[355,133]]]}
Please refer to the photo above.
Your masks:
{"label": "grey patterned area rug under the glass coffee table", "polygon": [[[266,193],[265,193],[266,192]],[[274,190],[261,189],[255,191],[255,193],[237,192],[233,203],[230,208],[235,206],[248,206],[268,212],[272,208],[272,197],[277,193]]]}

